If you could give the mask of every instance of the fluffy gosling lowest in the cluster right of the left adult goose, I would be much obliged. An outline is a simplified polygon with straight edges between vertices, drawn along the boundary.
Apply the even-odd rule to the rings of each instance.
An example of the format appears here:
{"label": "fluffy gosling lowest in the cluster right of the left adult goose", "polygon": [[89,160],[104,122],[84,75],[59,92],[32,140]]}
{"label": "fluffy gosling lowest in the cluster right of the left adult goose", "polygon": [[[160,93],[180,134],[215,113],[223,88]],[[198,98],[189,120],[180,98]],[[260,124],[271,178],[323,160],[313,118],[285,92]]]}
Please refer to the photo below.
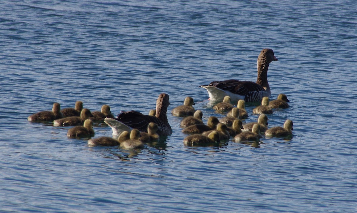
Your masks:
{"label": "fluffy gosling lowest in the cluster right of the left adult goose", "polygon": [[183,139],[183,143],[188,146],[202,146],[220,143],[220,135],[216,130],[212,131],[208,136],[202,134],[188,135]]}

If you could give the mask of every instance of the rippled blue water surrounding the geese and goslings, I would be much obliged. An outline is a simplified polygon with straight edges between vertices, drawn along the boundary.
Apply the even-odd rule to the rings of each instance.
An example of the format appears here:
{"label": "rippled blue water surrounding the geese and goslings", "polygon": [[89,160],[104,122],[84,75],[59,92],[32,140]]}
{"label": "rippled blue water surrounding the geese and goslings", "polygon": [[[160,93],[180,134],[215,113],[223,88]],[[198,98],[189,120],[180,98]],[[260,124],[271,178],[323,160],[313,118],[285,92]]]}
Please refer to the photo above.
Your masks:
{"label": "rippled blue water surrounding the geese and goslings", "polygon": [[[355,1],[1,1],[0,212],[355,212]],[[256,80],[272,48],[272,98],[290,140],[188,147],[173,134],[141,151],[89,147],[66,127],[30,123],[52,103],[148,113],[199,85]],[[254,105],[247,105],[250,118]],[[104,124],[95,137],[110,136]]]}

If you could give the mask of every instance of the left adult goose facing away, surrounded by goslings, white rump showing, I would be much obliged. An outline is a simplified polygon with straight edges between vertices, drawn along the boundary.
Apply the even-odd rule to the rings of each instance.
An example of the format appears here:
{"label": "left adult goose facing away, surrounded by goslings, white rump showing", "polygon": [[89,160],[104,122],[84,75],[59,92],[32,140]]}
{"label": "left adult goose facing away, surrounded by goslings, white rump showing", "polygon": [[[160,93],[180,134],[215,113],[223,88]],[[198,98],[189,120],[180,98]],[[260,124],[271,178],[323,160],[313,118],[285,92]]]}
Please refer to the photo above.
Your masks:
{"label": "left adult goose facing away, surrounded by goslings, white rump showing", "polygon": [[120,135],[122,131],[131,131],[131,129],[144,132],[150,122],[157,124],[157,134],[171,135],[172,130],[166,115],[169,104],[169,95],[161,93],[156,100],[156,117],[132,110],[121,113],[116,119],[105,118],[104,122],[112,128],[113,135]]}

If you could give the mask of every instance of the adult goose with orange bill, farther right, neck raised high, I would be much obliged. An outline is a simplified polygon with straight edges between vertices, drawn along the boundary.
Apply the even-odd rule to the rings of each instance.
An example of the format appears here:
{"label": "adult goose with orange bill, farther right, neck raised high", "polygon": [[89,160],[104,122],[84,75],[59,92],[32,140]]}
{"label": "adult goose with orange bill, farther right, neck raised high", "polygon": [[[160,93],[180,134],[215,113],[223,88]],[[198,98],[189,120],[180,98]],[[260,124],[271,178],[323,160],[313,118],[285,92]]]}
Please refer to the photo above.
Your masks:
{"label": "adult goose with orange bill, farther right, neck raised high", "polygon": [[259,102],[263,97],[270,97],[270,87],[267,72],[270,62],[278,61],[271,49],[263,49],[257,60],[258,77],[256,83],[241,80],[213,81],[209,85],[201,85],[207,90],[210,100],[222,100],[226,95],[231,100],[245,100],[246,102]]}

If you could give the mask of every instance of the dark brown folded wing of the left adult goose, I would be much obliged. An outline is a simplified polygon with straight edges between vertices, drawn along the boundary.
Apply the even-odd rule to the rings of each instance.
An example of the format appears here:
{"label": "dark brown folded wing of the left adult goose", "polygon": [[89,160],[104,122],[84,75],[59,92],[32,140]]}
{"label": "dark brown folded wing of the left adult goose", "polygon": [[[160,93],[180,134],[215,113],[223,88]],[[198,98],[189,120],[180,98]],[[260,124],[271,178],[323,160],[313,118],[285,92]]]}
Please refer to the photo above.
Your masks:
{"label": "dark brown folded wing of the left adult goose", "polygon": [[147,126],[149,125],[150,122],[156,123],[157,126],[159,126],[159,128],[160,127],[166,128],[166,125],[162,123],[162,121],[156,118],[155,116],[144,115],[135,110],[126,111],[119,114],[116,120],[119,120],[120,122],[130,126],[131,128],[138,129],[139,131],[142,132],[147,131]]}

